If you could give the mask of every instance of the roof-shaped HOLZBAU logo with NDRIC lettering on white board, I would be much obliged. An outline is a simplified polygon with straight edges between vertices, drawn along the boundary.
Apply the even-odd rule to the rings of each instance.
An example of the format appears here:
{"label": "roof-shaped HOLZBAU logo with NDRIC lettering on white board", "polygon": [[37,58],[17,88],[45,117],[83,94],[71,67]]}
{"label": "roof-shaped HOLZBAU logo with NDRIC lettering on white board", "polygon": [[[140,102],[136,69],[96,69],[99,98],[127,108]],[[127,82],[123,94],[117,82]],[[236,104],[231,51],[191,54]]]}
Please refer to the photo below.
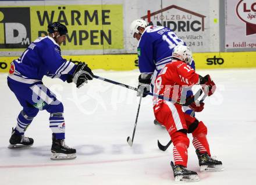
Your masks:
{"label": "roof-shaped HOLZBAU logo with NDRIC lettering on white board", "polygon": [[205,17],[191,10],[171,5],[152,13],[148,10],[148,14],[142,16],[141,19],[147,19],[150,25],[169,27],[177,32],[197,32],[204,31]]}

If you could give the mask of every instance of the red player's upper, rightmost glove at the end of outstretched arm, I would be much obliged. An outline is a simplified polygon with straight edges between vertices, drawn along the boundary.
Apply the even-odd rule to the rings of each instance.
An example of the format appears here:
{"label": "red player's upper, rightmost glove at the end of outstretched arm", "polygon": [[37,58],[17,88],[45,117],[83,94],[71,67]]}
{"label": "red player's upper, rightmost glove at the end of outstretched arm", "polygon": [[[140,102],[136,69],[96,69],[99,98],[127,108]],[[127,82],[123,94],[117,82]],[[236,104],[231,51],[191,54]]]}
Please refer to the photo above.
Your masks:
{"label": "red player's upper, rightmost glove at the end of outstretched arm", "polygon": [[216,90],[216,85],[214,81],[212,81],[209,74],[207,74],[207,76],[205,77],[199,76],[199,78],[200,78],[200,84],[202,85],[202,90],[204,91],[204,93],[207,94],[208,96],[211,96],[212,94],[214,94]]}

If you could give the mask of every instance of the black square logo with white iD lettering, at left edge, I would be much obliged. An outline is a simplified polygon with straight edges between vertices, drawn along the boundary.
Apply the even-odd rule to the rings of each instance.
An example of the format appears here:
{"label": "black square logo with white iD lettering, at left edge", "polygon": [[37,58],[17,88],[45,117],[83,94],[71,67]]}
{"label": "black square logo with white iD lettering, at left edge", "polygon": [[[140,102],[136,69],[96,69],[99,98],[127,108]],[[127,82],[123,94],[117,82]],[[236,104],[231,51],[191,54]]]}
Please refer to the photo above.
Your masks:
{"label": "black square logo with white iD lettering, at left edge", "polygon": [[27,48],[30,44],[30,8],[0,8],[0,48]]}

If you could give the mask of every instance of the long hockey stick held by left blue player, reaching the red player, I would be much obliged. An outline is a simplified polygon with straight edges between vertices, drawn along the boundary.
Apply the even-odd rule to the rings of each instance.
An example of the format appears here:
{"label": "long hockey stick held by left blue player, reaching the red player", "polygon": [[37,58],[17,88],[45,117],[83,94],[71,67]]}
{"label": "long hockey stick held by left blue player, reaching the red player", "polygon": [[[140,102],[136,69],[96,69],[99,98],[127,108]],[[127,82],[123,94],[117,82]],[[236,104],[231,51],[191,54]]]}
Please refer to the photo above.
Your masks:
{"label": "long hockey stick held by left blue player, reaching the red player", "polygon": [[[118,86],[126,87],[126,88],[129,88],[129,89],[134,90],[134,91],[138,91],[138,88],[136,88],[136,87],[128,86],[128,85],[126,85],[126,84],[122,84],[122,83],[119,83],[119,82],[117,82],[117,81],[105,79],[105,78],[103,78],[103,77],[99,77],[99,76],[96,76],[96,75],[94,75],[94,78],[95,78],[95,79],[102,80],[102,81],[106,81],[106,82],[108,82],[108,83],[116,84],[116,85],[118,85]],[[150,92],[148,92],[147,94],[148,94],[148,95],[151,95],[151,96],[153,96],[153,97],[157,97],[157,98],[159,98],[159,99],[163,99],[163,100],[165,100],[165,101],[171,101],[171,102],[173,102],[173,103],[177,103],[177,104],[180,104],[180,105],[183,105],[183,106],[188,106],[188,105],[192,104],[192,103],[195,101],[195,99],[197,99],[197,98],[200,97],[200,95],[202,94],[202,90],[201,90],[201,89],[198,90],[197,93],[195,93],[195,95],[193,95],[193,97],[186,99],[186,102],[185,102],[184,104],[182,104],[182,103],[180,103],[180,102],[176,102],[176,101],[174,101],[174,100],[172,100],[172,99],[170,99],[170,98],[168,98],[168,97],[164,97],[164,96],[162,96],[162,95],[158,95],[158,94],[154,94],[154,93],[150,93]]]}

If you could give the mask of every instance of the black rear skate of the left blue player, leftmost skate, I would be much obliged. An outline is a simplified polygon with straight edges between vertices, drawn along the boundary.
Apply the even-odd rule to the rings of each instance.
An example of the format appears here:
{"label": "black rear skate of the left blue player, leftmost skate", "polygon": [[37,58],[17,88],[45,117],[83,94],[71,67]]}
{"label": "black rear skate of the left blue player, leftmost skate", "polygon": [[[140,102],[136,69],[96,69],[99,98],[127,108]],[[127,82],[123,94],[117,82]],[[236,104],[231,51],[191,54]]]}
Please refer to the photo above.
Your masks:
{"label": "black rear skate of the left blue player, leftmost skate", "polygon": [[12,136],[10,136],[9,142],[10,144],[8,148],[22,148],[22,147],[30,147],[31,145],[33,145],[34,140],[33,138],[16,134],[15,130],[12,128]]}

